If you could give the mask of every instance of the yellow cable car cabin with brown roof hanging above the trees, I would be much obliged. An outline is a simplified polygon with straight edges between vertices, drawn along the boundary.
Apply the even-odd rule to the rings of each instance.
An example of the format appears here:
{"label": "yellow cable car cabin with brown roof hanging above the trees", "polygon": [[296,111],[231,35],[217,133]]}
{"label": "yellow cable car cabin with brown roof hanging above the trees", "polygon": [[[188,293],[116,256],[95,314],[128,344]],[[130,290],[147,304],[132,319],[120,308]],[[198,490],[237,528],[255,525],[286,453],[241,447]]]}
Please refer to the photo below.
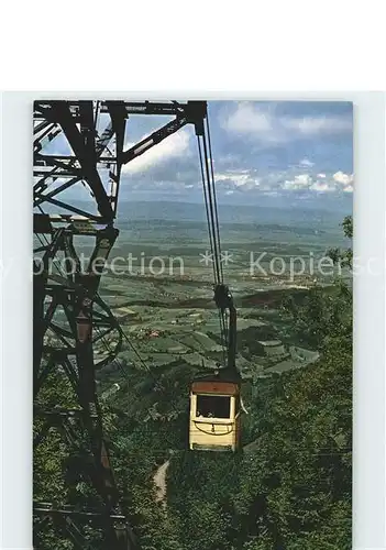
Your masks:
{"label": "yellow cable car cabin with brown roof hanging above the trees", "polygon": [[240,384],[208,376],[190,391],[189,448],[235,451],[240,446]]}

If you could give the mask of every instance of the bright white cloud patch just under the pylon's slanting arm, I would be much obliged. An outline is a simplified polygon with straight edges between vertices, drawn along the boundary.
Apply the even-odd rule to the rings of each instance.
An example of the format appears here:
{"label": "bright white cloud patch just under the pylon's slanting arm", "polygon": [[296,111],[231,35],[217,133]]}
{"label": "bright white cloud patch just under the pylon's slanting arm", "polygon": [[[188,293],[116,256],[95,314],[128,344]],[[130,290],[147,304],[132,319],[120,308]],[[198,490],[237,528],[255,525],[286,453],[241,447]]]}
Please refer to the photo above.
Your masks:
{"label": "bright white cloud patch just under the pylon's slanting arm", "polygon": [[[126,143],[125,150],[133,145],[134,143]],[[186,154],[188,150],[189,133],[186,130],[181,130],[169,135],[156,146],[150,148],[141,156],[125,164],[122,172],[123,174],[139,174],[146,172],[152,166]]]}

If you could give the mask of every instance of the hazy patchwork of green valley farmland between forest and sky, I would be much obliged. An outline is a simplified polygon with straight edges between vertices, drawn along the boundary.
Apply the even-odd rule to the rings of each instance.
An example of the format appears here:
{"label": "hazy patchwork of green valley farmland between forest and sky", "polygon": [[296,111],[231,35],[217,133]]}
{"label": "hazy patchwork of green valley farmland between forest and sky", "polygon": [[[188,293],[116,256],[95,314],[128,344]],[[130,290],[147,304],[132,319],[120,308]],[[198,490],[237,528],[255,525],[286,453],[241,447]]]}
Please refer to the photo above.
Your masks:
{"label": "hazy patchwork of green valley farmland between forest and sky", "polygon": [[[194,205],[190,219],[179,219],[178,211],[164,205],[162,216],[170,216],[165,219],[154,213],[155,205],[146,208],[153,219],[144,219],[141,208],[133,212],[130,206],[128,216],[133,218],[120,218],[120,235],[100,295],[152,370],[176,362],[196,369],[214,366],[224,355],[202,211]],[[299,342],[282,304],[286,296],[301,300],[310,287],[333,280],[332,273],[319,273],[317,267],[311,272],[309,261],[313,257],[316,266],[329,248],[344,245],[340,215],[307,212],[305,217],[301,211],[277,210],[275,223],[266,212],[263,223],[258,209],[240,207],[239,212],[233,208],[224,213],[222,267],[238,308],[239,369],[249,378],[261,371],[282,373],[306,366],[317,355],[305,350],[299,358],[290,352],[290,345]],[[299,273],[300,258],[306,262],[304,273]],[[260,344],[272,339],[283,342],[284,352],[277,356]],[[130,369],[141,366],[126,342],[119,359]],[[106,387],[110,374],[101,373],[101,378]]]}

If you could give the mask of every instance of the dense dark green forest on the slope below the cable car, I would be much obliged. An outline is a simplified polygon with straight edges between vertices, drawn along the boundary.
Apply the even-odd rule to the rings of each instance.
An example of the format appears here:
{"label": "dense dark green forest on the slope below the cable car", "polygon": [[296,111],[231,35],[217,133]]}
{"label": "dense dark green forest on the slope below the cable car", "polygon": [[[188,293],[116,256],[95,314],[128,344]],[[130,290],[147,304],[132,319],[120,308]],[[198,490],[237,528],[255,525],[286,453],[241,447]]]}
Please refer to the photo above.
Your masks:
{"label": "dense dark green forest on the slope below the cable car", "polygon": [[[352,218],[342,223],[352,238]],[[330,251],[350,267],[350,249]],[[189,384],[196,367],[175,361],[157,376],[124,366],[121,391],[100,399],[122,508],[142,550],[349,550],[352,484],[352,287],[337,278],[299,302],[288,292],[280,316],[319,352],[305,369],[247,378],[242,449],[187,451]],[[52,373],[37,407],[73,406]],[[36,417],[34,429],[42,428]],[[53,452],[55,449],[55,452]],[[51,430],[34,452],[34,497],[97,506],[77,452]],[[70,458],[69,458],[70,457]],[[166,465],[165,494],[154,473]],[[92,548],[101,534],[85,527]],[[58,526],[36,531],[38,550],[71,550]],[[102,548],[100,546],[100,548]],[[112,549],[113,550],[113,549]]]}

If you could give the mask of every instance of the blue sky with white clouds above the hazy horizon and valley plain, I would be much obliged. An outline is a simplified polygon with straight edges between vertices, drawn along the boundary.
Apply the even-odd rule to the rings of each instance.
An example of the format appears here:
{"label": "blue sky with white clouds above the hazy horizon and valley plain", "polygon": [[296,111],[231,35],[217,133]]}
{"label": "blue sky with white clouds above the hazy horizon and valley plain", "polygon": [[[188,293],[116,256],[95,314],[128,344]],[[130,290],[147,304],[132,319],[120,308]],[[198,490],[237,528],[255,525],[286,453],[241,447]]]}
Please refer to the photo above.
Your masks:
{"label": "blue sky with white clouds above the hazy horizon and valley plain", "polygon": [[[352,103],[331,101],[209,101],[219,200],[238,202],[351,200]],[[134,144],[168,122],[133,116],[125,142]],[[103,122],[103,121],[102,121]],[[49,150],[65,152],[55,140]],[[46,151],[48,153],[48,150]],[[194,129],[186,127],[123,170],[121,199],[201,198]]]}

